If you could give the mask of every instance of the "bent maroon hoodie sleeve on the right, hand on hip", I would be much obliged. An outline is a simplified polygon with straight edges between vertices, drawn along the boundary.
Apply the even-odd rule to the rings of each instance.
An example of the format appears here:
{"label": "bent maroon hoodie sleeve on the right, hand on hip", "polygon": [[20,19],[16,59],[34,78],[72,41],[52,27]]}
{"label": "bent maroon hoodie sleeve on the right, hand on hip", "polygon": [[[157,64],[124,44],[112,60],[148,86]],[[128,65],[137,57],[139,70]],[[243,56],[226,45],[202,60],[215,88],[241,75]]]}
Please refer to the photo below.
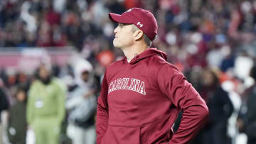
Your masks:
{"label": "bent maroon hoodie sleeve on the right, hand on hip", "polygon": [[161,92],[169,97],[172,104],[183,111],[178,131],[169,143],[188,143],[201,129],[208,116],[206,103],[173,65],[164,64],[157,77]]}

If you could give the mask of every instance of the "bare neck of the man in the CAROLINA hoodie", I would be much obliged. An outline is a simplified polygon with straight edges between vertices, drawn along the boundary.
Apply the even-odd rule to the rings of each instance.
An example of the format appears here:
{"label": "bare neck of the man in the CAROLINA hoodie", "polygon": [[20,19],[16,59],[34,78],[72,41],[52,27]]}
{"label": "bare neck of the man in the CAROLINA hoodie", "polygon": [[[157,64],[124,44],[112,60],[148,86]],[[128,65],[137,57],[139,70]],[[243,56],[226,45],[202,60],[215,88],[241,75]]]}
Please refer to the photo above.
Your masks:
{"label": "bare neck of the man in the CAROLINA hoodie", "polygon": [[147,46],[133,46],[129,48],[123,48],[122,52],[124,52],[125,57],[127,57],[127,61],[131,62],[131,60],[136,57],[137,55],[144,52],[147,48]]}

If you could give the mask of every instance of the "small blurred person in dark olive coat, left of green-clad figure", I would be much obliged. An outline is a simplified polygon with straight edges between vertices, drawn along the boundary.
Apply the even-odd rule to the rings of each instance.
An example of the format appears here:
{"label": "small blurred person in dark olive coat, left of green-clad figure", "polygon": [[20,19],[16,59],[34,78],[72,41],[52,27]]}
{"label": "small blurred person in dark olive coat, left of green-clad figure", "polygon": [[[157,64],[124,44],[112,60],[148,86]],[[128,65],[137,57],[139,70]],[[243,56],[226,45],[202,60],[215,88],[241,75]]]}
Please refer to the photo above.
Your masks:
{"label": "small blurred person in dark olive coat, left of green-clad figure", "polygon": [[7,133],[9,142],[12,144],[26,144],[26,89],[18,87],[16,103],[11,106]]}

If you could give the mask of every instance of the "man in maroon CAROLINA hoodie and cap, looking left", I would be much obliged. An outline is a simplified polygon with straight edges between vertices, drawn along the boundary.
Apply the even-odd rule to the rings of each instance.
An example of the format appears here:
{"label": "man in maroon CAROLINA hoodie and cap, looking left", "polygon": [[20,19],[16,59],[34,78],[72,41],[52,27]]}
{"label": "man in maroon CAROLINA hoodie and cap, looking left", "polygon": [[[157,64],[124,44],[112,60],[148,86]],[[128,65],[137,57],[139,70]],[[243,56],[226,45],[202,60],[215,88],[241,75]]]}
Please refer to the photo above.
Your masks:
{"label": "man in maroon CAROLINA hoodie and cap, looking left", "polygon": [[[166,62],[166,54],[150,48],[157,35],[153,14],[134,8],[109,17],[118,23],[114,47],[125,57],[110,65],[102,80],[97,143],[188,143],[208,108],[183,74]],[[174,134],[178,111],[183,118]]]}

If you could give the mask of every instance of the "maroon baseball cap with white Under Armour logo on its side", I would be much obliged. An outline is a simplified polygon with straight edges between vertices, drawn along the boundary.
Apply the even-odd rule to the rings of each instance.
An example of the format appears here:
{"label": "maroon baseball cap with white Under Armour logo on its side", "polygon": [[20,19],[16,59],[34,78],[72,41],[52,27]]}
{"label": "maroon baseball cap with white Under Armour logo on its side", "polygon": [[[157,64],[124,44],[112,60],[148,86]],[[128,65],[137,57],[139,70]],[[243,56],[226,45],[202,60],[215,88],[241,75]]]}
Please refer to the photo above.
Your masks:
{"label": "maroon baseball cap with white Under Armour logo on its side", "polygon": [[109,17],[115,23],[134,24],[146,34],[150,40],[154,40],[157,35],[157,22],[154,15],[147,10],[140,8],[132,8],[121,15],[109,13]]}

